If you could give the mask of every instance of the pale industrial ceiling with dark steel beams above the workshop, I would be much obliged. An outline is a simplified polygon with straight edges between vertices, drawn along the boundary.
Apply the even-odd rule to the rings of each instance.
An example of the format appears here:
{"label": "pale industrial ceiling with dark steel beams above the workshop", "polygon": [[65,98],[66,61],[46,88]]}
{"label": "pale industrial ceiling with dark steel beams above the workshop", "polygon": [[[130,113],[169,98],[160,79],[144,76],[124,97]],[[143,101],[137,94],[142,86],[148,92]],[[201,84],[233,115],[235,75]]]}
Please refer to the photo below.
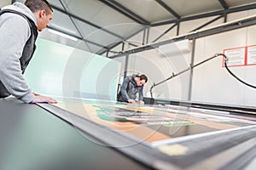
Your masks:
{"label": "pale industrial ceiling with dark steel beams above the workshop", "polygon": [[[16,1],[2,0],[0,7]],[[113,48],[151,27],[170,25],[171,30],[183,21],[213,16],[225,21],[227,14],[256,8],[255,0],[48,1],[54,9],[54,19],[48,31],[41,32],[40,36],[96,54],[114,53]],[[57,36],[49,30],[61,31],[78,41]]]}

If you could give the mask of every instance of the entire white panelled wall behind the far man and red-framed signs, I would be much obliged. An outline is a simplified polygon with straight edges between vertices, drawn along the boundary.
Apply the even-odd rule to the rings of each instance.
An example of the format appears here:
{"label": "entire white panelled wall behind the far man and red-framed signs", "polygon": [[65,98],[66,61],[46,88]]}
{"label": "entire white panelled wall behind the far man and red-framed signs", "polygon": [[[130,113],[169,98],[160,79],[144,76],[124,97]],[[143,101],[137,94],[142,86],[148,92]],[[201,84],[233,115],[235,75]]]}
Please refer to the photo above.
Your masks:
{"label": "entire white panelled wall behind the far man and red-framed signs", "polygon": [[[256,14],[256,10],[243,11],[228,15],[228,21],[238,20]],[[188,31],[203,25],[214,17],[191,20],[183,22],[180,26],[180,33],[185,34]],[[218,26],[223,23],[223,19],[217,20],[210,26]],[[160,36],[161,32],[166,31],[169,26],[156,27],[150,29],[149,40]],[[207,27],[210,27],[207,26]],[[204,28],[205,29],[205,28]],[[153,31],[152,31],[153,30]],[[176,35],[177,29],[173,29],[161,40],[166,37]],[[132,41],[141,41],[142,34],[131,38]],[[149,41],[150,42],[150,41]],[[204,59],[212,57],[214,54],[223,53],[226,48],[238,48],[247,45],[256,44],[256,26],[249,26],[234,31],[227,31],[196,39],[195,42],[195,61],[194,64]],[[175,48],[173,46],[173,48]],[[140,72],[146,74],[149,83],[145,86],[144,94],[149,94],[149,89],[153,83],[160,82],[167,77],[172,76],[172,72],[177,73],[188,68],[191,62],[191,51],[163,56],[159,54],[158,49],[143,51],[129,56],[128,71]],[[117,58],[125,63],[125,58]],[[256,90],[249,88],[234,77],[231,77],[228,71],[222,67],[223,59],[218,57],[194,69],[192,80],[191,101],[228,104],[228,105],[256,105]],[[123,71],[124,67],[122,68]],[[256,86],[256,78],[253,72],[256,71],[256,65],[239,66],[230,68],[242,80]],[[189,97],[189,71],[182,77],[175,77],[168,82],[154,88],[154,97],[165,99],[188,99]]]}

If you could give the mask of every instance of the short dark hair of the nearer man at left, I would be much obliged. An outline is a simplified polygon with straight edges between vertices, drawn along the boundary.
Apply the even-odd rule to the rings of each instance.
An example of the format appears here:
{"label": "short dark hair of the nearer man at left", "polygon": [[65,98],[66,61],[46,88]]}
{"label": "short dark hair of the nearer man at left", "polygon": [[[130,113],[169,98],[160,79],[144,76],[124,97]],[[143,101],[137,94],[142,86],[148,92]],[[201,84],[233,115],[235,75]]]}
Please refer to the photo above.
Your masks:
{"label": "short dark hair of the nearer man at left", "polygon": [[30,8],[32,13],[42,9],[46,11],[46,14],[53,12],[53,9],[46,0],[26,0],[25,5],[27,8]]}

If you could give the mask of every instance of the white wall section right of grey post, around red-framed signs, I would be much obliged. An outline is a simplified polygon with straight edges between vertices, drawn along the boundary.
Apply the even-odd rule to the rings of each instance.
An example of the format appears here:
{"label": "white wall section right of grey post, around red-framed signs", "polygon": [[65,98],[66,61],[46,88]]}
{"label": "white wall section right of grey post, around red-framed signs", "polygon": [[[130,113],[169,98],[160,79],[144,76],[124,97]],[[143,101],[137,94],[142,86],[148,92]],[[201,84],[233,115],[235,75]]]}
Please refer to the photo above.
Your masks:
{"label": "white wall section right of grey post, around red-framed signs", "polygon": [[[199,44],[196,45],[195,53],[196,59],[203,59],[214,53],[223,52],[225,48],[237,48],[256,44],[256,38],[253,39],[255,31],[256,26],[250,26],[198,39],[197,42]],[[203,53],[200,53],[201,46],[205,48]],[[238,82],[234,77],[231,77],[228,71],[222,67],[221,63],[221,58],[214,59],[207,65],[195,70],[192,100],[219,104],[255,105],[255,89],[249,88]],[[245,82],[256,85],[256,80],[253,77],[256,65],[230,67],[230,70]]]}

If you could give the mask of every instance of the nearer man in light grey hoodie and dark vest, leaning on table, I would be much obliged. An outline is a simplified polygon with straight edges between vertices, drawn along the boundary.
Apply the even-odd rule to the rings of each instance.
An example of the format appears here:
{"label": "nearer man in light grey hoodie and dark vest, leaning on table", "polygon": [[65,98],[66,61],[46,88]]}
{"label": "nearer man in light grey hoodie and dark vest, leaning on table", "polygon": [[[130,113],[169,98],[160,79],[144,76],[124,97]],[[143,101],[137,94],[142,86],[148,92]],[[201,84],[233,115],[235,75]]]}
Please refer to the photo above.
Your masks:
{"label": "nearer man in light grey hoodie and dark vest, leaning on table", "polygon": [[26,0],[0,10],[0,98],[13,95],[25,103],[56,103],[32,93],[23,77],[36,48],[38,31],[49,26],[52,17],[46,0]]}

